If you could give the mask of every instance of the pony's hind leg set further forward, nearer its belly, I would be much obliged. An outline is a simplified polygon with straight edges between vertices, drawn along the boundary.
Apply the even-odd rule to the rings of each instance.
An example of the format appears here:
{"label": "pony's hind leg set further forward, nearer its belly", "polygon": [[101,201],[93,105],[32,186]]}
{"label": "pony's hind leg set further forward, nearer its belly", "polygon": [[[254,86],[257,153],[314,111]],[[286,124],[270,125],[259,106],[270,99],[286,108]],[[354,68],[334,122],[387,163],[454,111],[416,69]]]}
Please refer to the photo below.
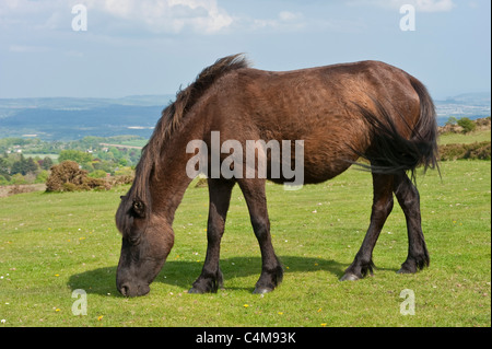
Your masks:
{"label": "pony's hind leg set further forward, nearer its belly", "polygon": [[373,274],[373,249],[376,245],[380,230],[393,210],[393,175],[373,173],[373,208],[371,213],[371,224],[365,234],[362,246],[355,255],[355,259],[347,268],[340,281],[359,280]]}

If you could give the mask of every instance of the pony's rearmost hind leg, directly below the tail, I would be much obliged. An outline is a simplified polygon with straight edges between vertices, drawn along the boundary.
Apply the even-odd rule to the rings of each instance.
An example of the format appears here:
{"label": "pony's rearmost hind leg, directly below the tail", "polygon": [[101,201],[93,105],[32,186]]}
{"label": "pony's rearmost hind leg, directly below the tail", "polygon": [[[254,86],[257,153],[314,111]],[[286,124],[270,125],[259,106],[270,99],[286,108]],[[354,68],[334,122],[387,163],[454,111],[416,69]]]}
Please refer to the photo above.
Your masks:
{"label": "pony's rearmost hind leg, directly below the tail", "polygon": [[394,191],[403,210],[408,232],[408,256],[398,272],[417,272],[430,263],[422,232],[419,191],[405,173],[395,176]]}

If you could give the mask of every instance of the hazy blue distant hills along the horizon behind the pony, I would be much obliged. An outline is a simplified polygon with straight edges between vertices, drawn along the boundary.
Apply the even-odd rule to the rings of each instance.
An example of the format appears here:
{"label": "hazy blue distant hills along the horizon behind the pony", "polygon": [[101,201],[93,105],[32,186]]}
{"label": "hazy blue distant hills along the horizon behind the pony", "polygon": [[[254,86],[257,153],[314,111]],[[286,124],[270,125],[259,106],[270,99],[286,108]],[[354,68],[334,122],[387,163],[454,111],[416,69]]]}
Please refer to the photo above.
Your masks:
{"label": "hazy blue distant hills along the horizon behind the pony", "polygon": [[[149,138],[174,95],[122,98],[0,98],[0,138],[38,137],[75,140],[85,136],[136,135]],[[490,93],[467,93],[435,101],[437,123],[450,116],[477,119],[491,115]]]}

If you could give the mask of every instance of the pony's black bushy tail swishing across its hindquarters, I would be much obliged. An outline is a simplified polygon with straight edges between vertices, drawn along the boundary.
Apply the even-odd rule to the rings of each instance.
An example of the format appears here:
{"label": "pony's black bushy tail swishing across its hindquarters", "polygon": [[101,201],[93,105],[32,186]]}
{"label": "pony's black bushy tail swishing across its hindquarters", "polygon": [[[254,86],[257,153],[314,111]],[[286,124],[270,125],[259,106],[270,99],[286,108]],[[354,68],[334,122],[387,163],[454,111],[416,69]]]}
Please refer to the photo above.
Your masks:
{"label": "pony's black bushy tail swishing across its hindquarters", "polygon": [[395,125],[395,118],[383,106],[382,103],[373,98],[376,113],[359,106],[360,113],[370,126],[370,148],[358,153],[370,161],[371,165],[361,164],[362,167],[374,173],[396,174],[411,172],[411,177],[415,179],[415,170],[419,166],[437,168],[437,124],[434,103],[425,86],[413,77],[409,77],[410,83],[420,98],[420,117],[412,128],[403,117],[398,121],[411,130],[409,139],[402,137]]}

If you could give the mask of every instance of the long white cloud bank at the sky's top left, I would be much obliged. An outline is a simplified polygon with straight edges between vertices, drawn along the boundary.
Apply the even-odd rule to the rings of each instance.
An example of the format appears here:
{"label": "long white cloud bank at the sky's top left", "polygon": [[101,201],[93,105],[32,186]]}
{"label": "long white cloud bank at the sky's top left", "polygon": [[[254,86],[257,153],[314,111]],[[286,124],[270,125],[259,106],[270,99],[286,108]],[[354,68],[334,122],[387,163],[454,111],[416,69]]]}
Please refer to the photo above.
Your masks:
{"label": "long white cloud bank at the sky's top left", "polygon": [[[1,0],[0,27],[27,24],[49,30],[69,28],[74,4],[87,7],[91,18],[97,18],[106,28],[143,28],[153,33],[192,31],[213,34],[229,27],[233,18],[216,0]],[[104,16],[119,20],[108,21]]]}

